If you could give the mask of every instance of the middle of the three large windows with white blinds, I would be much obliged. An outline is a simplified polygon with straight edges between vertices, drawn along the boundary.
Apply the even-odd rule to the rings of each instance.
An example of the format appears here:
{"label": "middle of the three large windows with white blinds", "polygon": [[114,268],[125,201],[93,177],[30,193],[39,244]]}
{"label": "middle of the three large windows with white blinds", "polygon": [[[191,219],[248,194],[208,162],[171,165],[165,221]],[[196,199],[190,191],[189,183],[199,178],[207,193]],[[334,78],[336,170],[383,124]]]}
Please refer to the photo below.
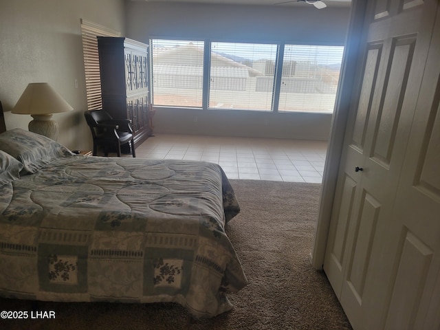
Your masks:
{"label": "middle of the three large windows with white blinds", "polygon": [[211,43],[209,107],[270,111],[276,45]]}

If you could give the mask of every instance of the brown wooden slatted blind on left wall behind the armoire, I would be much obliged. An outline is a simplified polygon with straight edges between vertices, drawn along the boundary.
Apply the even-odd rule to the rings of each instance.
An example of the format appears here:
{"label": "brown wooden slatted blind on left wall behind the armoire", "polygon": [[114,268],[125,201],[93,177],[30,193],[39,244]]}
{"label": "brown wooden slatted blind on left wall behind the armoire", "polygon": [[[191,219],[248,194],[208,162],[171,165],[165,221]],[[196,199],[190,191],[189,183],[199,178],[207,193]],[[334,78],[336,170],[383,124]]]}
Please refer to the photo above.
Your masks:
{"label": "brown wooden slatted blind on left wall behind the armoire", "polygon": [[102,109],[97,36],[120,36],[102,25],[81,19],[87,109]]}

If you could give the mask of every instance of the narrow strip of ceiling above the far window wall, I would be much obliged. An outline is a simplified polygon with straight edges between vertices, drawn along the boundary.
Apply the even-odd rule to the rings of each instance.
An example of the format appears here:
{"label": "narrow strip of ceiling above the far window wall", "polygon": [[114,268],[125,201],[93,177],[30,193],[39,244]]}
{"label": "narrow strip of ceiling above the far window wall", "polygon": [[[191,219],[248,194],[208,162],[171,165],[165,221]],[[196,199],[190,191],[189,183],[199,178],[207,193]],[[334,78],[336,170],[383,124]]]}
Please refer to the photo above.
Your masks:
{"label": "narrow strip of ceiling above the far window wall", "polygon": [[[308,5],[304,1],[296,1],[283,3],[289,0],[132,0],[132,1],[147,1],[147,2],[186,2],[186,3],[211,3],[223,5],[289,5],[289,6],[305,6]],[[314,0],[309,0],[314,2]],[[322,0],[329,8],[349,8],[351,0]]]}

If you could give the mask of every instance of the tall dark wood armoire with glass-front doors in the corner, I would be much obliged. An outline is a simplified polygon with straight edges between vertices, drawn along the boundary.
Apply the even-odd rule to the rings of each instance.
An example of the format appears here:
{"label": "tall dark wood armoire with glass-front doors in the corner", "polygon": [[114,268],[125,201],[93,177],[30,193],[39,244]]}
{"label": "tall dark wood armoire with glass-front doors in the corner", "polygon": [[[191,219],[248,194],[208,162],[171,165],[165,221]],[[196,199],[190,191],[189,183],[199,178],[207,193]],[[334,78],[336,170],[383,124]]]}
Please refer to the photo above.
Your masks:
{"label": "tall dark wood armoire with glass-front doors in the corner", "polygon": [[115,119],[131,120],[137,147],[153,133],[148,120],[148,45],[124,37],[98,36],[98,50],[102,109]]}

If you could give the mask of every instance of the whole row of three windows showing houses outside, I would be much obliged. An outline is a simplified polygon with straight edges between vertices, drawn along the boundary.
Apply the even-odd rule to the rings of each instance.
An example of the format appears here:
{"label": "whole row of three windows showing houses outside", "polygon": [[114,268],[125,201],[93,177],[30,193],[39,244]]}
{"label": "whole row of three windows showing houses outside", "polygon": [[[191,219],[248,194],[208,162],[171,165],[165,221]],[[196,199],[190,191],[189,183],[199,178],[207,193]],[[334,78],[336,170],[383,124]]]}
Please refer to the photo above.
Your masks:
{"label": "whole row of three windows showing houses outside", "polygon": [[331,113],[343,50],[152,39],[153,104]]}

